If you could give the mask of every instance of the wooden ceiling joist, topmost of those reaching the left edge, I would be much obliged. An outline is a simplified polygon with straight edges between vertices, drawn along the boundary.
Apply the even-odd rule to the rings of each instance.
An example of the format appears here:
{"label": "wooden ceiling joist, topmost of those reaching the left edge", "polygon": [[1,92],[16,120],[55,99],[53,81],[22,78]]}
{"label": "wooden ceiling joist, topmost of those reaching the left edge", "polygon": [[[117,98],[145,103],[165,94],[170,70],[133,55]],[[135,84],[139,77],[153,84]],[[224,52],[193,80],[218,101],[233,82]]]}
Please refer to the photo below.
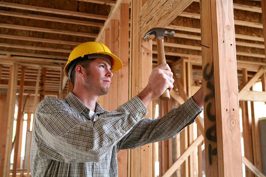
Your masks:
{"label": "wooden ceiling joist, topmost of those reaching the left edge", "polygon": [[65,11],[65,10],[60,10],[60,9],[53,9],[53,8],[46,8],[46,7],[39,7],[39,6],[29,6],[29,5],[16,4],[16,3],[10,3],[10,2],[0,2],[0,6],[15,8],[15,9],[23,9],[23,10],[28,10],[28,11],[37,11],[37,12],[68,15],[68,16],[75,16],[75,17],[83,17],[83,18],[89,18],[89,19],[98,19],[98,20],[107,19],[107,16],[105,15],[96,15],[96,14],[82,13],[82,12],[76,12],[76,11]]}

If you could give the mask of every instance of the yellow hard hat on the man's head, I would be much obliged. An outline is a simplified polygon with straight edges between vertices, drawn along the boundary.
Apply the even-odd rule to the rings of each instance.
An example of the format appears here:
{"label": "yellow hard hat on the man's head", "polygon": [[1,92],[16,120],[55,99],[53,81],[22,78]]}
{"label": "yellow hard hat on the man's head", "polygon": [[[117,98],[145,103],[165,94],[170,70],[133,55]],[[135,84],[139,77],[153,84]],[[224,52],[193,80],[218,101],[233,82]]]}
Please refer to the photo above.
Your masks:
{"label": "yellow hard hat on the man's head", "polygon": [[96,53],[101,53],[105,55],[109,55],[111,57],[111,64],[112,64],[112,72],[120,70],[123,68],[122,61],[115,56],[114,54],[111,53],[110,49],[105,45],[100,42],[84,42],[82,44],[79,44],[76,46],[70,53],[67,64],[64,68],[64,73],[68,77],[68,69],[69,65],[71,64],[72,61],[79,57],[84,57],[84,55],[88,54],[96,54]]}

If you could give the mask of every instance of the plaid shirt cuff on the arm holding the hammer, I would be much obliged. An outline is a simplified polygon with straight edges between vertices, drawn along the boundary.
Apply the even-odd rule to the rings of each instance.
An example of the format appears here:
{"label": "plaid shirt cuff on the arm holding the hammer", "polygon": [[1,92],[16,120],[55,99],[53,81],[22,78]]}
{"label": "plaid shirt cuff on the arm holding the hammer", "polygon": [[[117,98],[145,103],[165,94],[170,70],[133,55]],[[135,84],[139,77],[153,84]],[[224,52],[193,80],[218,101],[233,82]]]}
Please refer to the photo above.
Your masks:
{"label": "plaid shirt cuff on the arm holding the hammer", "polygon": [[143,117],[145,117],[148,114],[148,110],[139,99],[139,97],[135,96],[128,100],[123,105],[119,106],[118,109],[125,108],[128,110],[131,115],[133,115],[136,118],[136,121],[141,120]]}

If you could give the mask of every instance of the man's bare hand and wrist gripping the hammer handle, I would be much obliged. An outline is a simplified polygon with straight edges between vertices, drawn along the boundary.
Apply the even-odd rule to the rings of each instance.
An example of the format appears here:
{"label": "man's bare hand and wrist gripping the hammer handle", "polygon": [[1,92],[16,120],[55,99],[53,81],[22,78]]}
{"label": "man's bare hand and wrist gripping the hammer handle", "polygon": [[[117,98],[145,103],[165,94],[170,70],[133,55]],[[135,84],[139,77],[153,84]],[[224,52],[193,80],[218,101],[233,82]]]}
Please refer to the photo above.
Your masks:
{"label": "man's bare hand and wrist gripping the hammer handle", "polygon": [[153,68],[147,86],[137,96],[147,107],[153,99],[160,97],[166,89],[169,88],[169,92],[172,91],[173,83],[173,73],[169,65],[161,64]]}

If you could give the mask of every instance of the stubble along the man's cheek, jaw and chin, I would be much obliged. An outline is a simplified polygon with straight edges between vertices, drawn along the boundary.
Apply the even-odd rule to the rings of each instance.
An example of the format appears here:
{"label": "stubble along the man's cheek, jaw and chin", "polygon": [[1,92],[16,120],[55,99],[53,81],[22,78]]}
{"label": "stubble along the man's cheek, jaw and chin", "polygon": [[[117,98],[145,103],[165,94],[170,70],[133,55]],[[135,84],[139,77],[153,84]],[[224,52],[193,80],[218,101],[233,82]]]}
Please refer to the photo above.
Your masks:
{"label": "stubble along the man's cheek, jaw and chin", "polygon": [[88,91],[93,91],[97,95],[105,95],[109,91],[109,86],[98,85],[99,81],[96,79],[96,76],[90,72],[89,69],[86,69],[87,78],[85,79],[84,86]]}

